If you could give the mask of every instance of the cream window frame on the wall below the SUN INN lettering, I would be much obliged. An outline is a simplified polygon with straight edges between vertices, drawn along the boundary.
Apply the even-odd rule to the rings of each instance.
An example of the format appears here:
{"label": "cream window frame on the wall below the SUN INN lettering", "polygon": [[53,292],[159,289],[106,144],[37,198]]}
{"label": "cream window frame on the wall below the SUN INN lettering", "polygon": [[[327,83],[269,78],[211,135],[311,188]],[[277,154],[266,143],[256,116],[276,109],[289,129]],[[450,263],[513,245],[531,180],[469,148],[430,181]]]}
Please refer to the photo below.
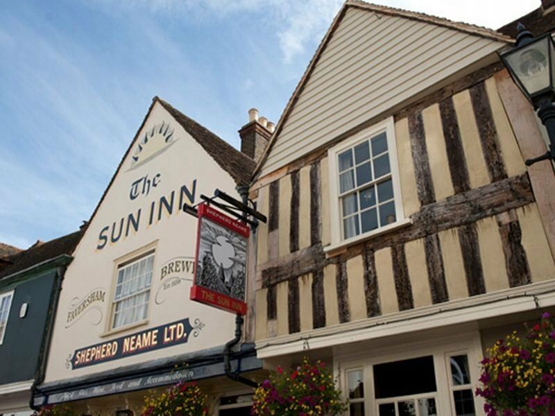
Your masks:
{"label": "cream window frame on the wall below the SUN INN lettering", "polygon": [[[138,327],[140,325],[148,323],[148,316],[151,313],[151,302],[152,296],[149,295],[148,302],[146,303],[146,318],[142,320],[138,320],[135,322],[131,322],[129,324],[121,325],[120,327],[114,327],[114,315],[116,311],[117,303],[121,302],[124,299],[115,300],[116,291],[117,291],[117,277],[119,273],[119,269],[121,267],[128,267],[133,265],[133,263],[137,263],[137,261],[142,261],[147,257],[153,257],[153,275],[151,277],[151,286],[148,289],[144,289],[141,293],[146,292],[147,290],[152,294],[152,287],[154,283],[154,275],[156,270],[156,249],[155,244],[151,244],[146,246],[145,248],[139,249],[133,253],[126,254],[126,256],[120,257],[114,261],[114,273],[112,279],[112,295],[110,296],[110,314],[109,319],[107,320],[106,324],[106,332],[103,333],[103,336],[110,335],[115,332],[125,331],[126,329]],[[139,295],[139,292],[134,293],[133,296]]]}

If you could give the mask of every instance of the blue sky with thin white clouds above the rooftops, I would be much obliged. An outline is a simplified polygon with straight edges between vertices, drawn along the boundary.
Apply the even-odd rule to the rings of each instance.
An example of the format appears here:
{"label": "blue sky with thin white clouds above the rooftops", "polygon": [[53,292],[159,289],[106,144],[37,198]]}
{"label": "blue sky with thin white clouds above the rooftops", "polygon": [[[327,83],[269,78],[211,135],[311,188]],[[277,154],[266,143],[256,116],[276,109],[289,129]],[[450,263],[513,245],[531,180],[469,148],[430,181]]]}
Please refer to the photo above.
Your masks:
{"label": "blue sky with thin white clouds above the rooftops", "polygon": [[[540,4],[378,3],[491,28]],[[89,219],[155,95],[236,147],[250,107],[278,121],[341,4],[2,0],[0,241]]]}

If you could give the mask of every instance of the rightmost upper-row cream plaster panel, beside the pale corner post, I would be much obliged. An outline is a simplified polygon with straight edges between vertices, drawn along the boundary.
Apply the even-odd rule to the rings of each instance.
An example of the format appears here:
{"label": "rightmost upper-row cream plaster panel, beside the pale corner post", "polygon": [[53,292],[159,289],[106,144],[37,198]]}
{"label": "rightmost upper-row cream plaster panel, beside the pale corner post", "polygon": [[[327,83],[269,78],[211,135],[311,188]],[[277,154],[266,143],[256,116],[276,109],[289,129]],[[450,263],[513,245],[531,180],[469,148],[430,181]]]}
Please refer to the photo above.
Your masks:
{"label": "rightmost upper-row cream plaster panel, beside the pale corner post", "polygon": [[486,80],[486,92],[490,100],[493,121],[495,122],[495,128],[497,128],[497,137],[499,137],[499,146],[501,147],[507,175],[509,177],[520,175],[526,172],[526,165],[524,165],[513,129],[509,124],[509,119],[507,119],[501,98],[499,98],[495,78],[491,77]]}

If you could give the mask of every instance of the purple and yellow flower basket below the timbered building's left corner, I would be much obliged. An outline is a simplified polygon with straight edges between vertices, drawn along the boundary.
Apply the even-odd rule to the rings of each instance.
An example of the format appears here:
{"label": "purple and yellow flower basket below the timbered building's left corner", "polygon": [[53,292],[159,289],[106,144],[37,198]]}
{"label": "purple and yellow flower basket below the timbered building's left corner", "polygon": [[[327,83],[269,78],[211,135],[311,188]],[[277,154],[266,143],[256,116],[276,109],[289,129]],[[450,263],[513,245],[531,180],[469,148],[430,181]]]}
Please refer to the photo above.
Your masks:
{"label": "purple and yellow flower basket below the timbered building's left corner", "polygon": [[335,388],[333,376],[321,361],[302,364],[291,372],[271,372],[255,391],[253,415],[341,415],[347,403]]}

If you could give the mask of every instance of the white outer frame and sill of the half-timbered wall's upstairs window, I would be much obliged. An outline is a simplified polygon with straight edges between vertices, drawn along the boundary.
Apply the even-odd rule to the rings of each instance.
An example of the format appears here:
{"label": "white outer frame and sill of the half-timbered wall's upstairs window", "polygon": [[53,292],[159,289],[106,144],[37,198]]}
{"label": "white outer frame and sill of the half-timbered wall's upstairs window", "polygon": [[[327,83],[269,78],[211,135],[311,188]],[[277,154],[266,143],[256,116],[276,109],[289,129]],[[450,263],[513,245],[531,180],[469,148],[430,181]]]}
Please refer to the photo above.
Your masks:
{"label": "white outer frame and sill of the half-timbered wall's upstairs window", "polygon": [[[339,163],[338,157],[341,152],[352,148],[364,140],[368,140],[371,137],[375,137],[380,133],[386,133],[388,155],[389,155],[389,166],[391,168],[391,180],[393,182],[393,200],[395,201],[395,223],[391,223],[382,227],[378,227],[368,232],[361,232],[357,236],[353,236],[349,239],[343,239],[343,218],[341,216],[341,199],[339,198]],[[330,196],[330,216],[331,216],[331,235],[332,242],[326,248],[325,251],[336,250],[345,245],[350,245],[357,243],[359,241],[368,239],[372,236],[379,234],[384,234],[385,232],[391,231],[392,229],[397,229],[405,225],[409,225],[411,222],[408,218],[404,216],[404,209],[402,205],[402,193],[399,175],[399,163],[397,155],[397,145],[395,139],[395,125],[393,123],[393,117],[377,123],[370,128],[366,128],[356,135],[353,135],[347,140],[341,141],[333,148],[327,151],[328,159],[328,175],[330,182],[329,196]]]}

